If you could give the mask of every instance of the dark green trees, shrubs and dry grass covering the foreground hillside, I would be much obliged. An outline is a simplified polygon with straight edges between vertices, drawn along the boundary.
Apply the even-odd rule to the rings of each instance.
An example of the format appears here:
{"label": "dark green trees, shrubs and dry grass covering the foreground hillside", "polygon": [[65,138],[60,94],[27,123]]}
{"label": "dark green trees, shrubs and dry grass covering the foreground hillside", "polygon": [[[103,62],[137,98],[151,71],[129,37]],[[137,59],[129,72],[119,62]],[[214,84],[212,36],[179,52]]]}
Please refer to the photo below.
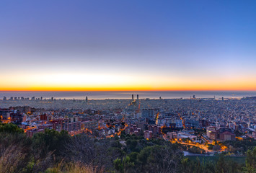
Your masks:
{"label": "dark green trees, shrubs and dry grass covering the foreground hillside", "polygon": [[148,141],[124,133],[120,138],[97,139],[45,130],[27,138],[17,125],[0,123],[0,173],[256,171],[256,147],[247,151],[245,164],[226,156],[219,156],[216,161],[193,159],[183,156],[183,149],[200,153],[196,147],[186,148],[162,139]]}

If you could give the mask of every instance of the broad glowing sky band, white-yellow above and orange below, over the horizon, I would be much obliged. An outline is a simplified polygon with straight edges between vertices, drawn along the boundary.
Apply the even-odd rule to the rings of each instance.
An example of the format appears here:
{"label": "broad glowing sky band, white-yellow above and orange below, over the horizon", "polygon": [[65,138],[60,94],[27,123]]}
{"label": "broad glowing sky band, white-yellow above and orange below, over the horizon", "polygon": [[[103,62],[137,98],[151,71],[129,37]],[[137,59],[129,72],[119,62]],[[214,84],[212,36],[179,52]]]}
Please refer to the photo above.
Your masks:
{"label": "broad glowing sky band, white-yellow above and orange below, over the horizon", "polygon": [[5,92],[256,91],[254,76],[229,78],[118,74],[22,74],[4,76]]}

